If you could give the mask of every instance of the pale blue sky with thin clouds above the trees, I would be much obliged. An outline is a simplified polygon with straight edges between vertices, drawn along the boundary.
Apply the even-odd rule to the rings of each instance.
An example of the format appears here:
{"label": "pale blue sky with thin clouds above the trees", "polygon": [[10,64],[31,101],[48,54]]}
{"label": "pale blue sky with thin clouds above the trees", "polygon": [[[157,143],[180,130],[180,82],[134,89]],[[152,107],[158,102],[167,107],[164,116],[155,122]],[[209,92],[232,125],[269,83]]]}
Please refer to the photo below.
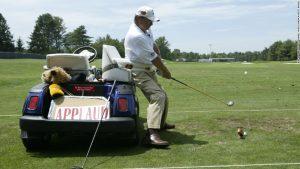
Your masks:
{"label": "pale blue sky with thin clouds above the trees", "polygon": [[278,40],[297,39],[297,0],[0,0],[14,39],[29,41],[39,15],[64,20],[67,32],[123,39],[136,10],[154,8],[154,37],[185,52],[261,51]]}

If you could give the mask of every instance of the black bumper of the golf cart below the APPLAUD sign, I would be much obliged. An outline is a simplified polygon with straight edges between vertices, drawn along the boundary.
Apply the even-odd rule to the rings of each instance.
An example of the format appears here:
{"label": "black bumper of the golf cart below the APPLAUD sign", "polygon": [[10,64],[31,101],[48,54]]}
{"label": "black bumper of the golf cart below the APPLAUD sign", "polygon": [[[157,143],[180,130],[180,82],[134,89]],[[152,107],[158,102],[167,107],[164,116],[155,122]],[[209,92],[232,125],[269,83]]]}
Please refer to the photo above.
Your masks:
{"label": "black bumper of the golf cart below the APPLAUD sign", "polygon": [[[49,120],[42,116],[22,116],[20,128],[29,132],[87,132],[95,131],[99,121],[79,120]],[[101,121],[100,132],[104,133],[130,133],[136,129],[136,121],[131,117],[111,117]]]}

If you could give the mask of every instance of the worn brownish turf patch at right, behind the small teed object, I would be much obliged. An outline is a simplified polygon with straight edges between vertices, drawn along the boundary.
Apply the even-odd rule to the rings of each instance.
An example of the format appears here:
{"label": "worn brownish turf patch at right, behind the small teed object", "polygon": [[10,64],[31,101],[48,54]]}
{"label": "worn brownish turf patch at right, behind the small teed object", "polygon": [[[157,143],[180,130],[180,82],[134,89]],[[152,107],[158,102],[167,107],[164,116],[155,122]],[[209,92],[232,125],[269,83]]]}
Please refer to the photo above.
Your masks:
{"label": "worn brownish turf patch at right, behind the small teed object", "polygon": [[[260,129],[266,132],[273,131],[284,131],[284,132],[295,132],[296,120],[290,118],[277,118],[277,119],[259,119],[259,120],[250,120],[250,119],[232,119],[232,118],[218,118],[216,119],[217,123],[220,125],[237,128],[245,127],[248,129]],[[297,132],[297,131],[296,131]]]}

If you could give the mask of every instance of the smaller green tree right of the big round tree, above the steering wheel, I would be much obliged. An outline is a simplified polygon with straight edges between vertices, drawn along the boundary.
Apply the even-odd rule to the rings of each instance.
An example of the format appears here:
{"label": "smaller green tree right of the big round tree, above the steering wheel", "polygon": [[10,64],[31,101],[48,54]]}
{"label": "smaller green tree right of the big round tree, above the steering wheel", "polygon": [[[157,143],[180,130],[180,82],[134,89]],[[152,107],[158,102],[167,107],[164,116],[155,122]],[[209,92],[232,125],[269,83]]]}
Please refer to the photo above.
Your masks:
{"label": "smaller green tree right of the big round tree, above the steering wheel", "polygon": [[64,45],[68,52],[74,51],[76,48],[91,45],[91,38],[87,35],[85,26],[80,25],[74,31],[69,32],[64,37]]}

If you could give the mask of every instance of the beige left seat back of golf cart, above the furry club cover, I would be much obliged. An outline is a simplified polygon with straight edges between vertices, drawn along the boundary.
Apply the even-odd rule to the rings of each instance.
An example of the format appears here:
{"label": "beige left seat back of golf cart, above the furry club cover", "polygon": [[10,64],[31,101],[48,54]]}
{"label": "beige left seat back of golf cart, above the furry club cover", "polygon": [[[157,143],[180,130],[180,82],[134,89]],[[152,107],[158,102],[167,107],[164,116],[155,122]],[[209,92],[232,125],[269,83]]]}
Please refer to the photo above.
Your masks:
{"label": "beige left seat back of golf cart, above the furry club cover", "polygon": [[67,70],[70,75],[78,73],[83,73],[86,76],[89,75],[89,60],[87,56],[82,54],[48,54],[46,56],[46,63],[47,65],[44,66],[44,69],[51,69],[54,66],[58,66]]}

